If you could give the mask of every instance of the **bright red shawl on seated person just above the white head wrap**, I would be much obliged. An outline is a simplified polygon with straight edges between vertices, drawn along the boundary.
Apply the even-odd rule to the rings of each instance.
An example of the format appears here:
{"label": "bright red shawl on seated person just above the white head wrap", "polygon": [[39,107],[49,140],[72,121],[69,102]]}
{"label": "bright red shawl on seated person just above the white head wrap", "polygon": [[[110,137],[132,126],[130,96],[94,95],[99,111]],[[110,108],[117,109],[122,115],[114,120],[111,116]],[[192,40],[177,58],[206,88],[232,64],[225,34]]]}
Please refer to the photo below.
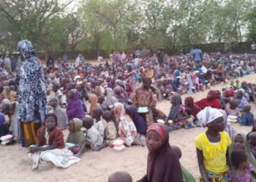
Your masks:
{"label": "bright red shawl on seated person just above the white head wrap", "polygon": [[195,102],[201,109],[206,108],[207,106],[211,106],[212,108],[222,109],[222,104],[219,101],[218,94],[215,90],[209,91],[212,94],[212,98],[203,98],[202,100],[198,100]]}

